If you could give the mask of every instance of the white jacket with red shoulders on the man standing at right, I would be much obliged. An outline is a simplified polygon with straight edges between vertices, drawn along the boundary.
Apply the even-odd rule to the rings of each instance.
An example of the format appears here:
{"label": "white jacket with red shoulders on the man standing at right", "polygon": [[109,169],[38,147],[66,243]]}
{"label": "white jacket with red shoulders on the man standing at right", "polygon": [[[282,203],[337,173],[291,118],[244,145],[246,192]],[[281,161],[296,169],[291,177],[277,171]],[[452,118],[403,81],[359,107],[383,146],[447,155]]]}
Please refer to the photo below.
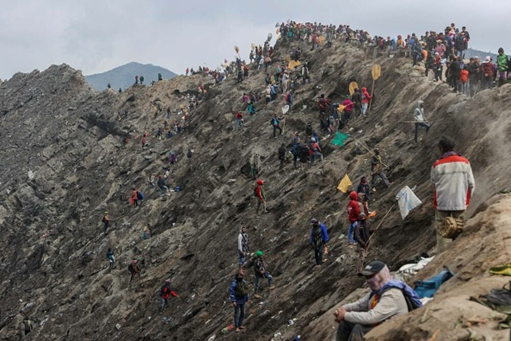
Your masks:
{"label": "white jacket with red shoulders on the man standing at right", "polygon": [[449,152],[431,167],[431,182],[435,186],[433,207],[438,211],[464,211],[474,194],[474,174],[469,161]]}

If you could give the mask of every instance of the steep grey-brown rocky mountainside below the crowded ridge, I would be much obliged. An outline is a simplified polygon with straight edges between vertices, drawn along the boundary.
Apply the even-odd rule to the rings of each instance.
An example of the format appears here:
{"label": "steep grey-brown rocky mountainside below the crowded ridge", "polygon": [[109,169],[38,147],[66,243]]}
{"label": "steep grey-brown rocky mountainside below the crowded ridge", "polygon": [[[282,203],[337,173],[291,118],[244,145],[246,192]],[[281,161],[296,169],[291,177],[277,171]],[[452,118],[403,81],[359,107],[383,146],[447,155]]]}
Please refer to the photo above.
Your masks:
{"label": "steep grey-brown rocky mountainside below the crowded ridge", "polygon": [[[278,42],[274,60],[284,59],[291,48]],[[451,93],[446,84],[427,80],[421,68],[412,69],[407,59],[365,60],[361,50],[340,41],[330,49],[302,48],[312,81],[296,84],[294,108],[286,114],[281,139],[272,138],[268,121],[281,110],[282,98],[258,103],[256,115],[245,115],[245,127],[234,128],[242,94],[264,92],[263,72],[251,70],[241,84],[230,77],[215,86],[201,76],[181,76],[150,87],[132,87],[122,94],[96,92],[66,65],[16,74],[2,83],[0,281],[4,308],[0,338],[184,340],[216,335],[216,339],[260,340],[276,333],[285,338],[305,333],[307,339],[317,339],[314,326],[331,322],[328,310],[363,286],[354,276],[355,248],[341,238],[347,232],[346,197],[335,187],[346,172],[354,183],[368,175],[370,154],[353,139],[342,148],[333,147],[327,139],[321,142],[325,162],[300,171],[292,165],[280,170],[276,152],[281,143],[291,142],[295,131],[303,131],[307,121],[313,120],[319,130],[315,98],[320,93],[338,100],[353,77],[359,85],[370,85],[373,63],[380,63],[383,70],[375,85],[376,101],[368,119],[352,122],[352,133],[367,146],[380,147],[391,168],[394,187],[380,187],[370,201],[370,209],[379,213],[375,224],[391,208],[402,186],[417,186],[415,193],[424,204],[405,221],[397,209],[391,210],[369,258],[395,267],[433,248],[429,170],[438,157],[436,143],[441,135],[455,138],[457,149],[471,160],[477,188],[470,214],[508,186],[504,172],[511,166],[505,143],[511,133],[510,85],[468,99]],[[169,140],[151,138],[150,147],[142,149],[140,135],[144,131],[154,135],[165,120],[165,113],[155,108],[179,107],[185,103],[181,95],[196,93],[202,84],[207,93],[192,113],[188,131]],[[433,126],[414,145],[413,127],[405,121],[411,120],[418,99],[425,101]],[[125,109],[129,111],[126,119],[120,115]],[[173,115],[170,122],[178,119]],[[132,139],[124,146],[122,139],[128,134]],[[195,154],[187,158],[191,147]],[[170,150],[177,153],[178,163],[168,183],[182,191],[159,199],[154,191],[146,191],[146,177],[162,172]],[[254,161],[267,180],[269,213],[261,216],[255,215],[253,181],[240,172]],[[132,187],[147,197],[136,209],[126,199]],[[115,220],[107,235],[101,223],[105,210]],[[327,224],[332,239],[329,260],[320,269],[313,269],[308,246],[312,217]],[[254,300],[247,309],[246,332],[224,335],[221,329],[232,323],[227,290],[238,267],[236,240],[241,222],[247,224],[251,252],[265,252],[277,288],[265,291],[263,299]],[[143,240],[145,226],[152,233]],[[476,230],[468,229],[463,238],[477,239]],[[463,238],[456,246],[460,255],[461,249],[470,248]],[[108,247],[117,257],[111,272],[105,257]],[[450,251],[445,257],[454,255]],[[130,285],[127,264],[132,257],[143,260],[143,269],[141,279]],[[431,264],[424,276],[439,266],[440,260]],[[465,268],[480,274],[487,270],[482,267]],[[452,283],[463,281],[465,273],[459,271]],[[251,269],[248,274],[252,285]],[[171,301],[172,309],[157,315],[157,291],[168,277],[179,297]],[[433,327],[419,334],[413,330],[419,328],[415,320],[409,320],[415,321],[413,328],[396,334],[402,323],[421,313],[393,321],[390,329],[383,325],[373,337],[427,339]],[[26,317],[34,323],[27,335]],[[296,323],[287,327],[293,318]]]}

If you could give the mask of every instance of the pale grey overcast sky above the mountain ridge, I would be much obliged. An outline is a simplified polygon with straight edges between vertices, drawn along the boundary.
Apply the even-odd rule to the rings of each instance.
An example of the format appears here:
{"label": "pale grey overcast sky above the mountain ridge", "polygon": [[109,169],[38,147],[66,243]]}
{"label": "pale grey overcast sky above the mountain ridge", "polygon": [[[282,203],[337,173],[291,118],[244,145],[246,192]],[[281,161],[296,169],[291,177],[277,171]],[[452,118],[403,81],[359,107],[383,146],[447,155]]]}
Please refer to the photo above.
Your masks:
{"label": "pale grey overcast sky above the mountain ridge", "polygon": [[451,22],[467,26],[470,47],[511,54],[507,0],[0,0],[0,78],[67,63],[84,75],[131,62],[182,74],[187,66],[216,67],[248,59],[250,43],[275,23],[292,19],[349,24],[371,35],[423,34]]}

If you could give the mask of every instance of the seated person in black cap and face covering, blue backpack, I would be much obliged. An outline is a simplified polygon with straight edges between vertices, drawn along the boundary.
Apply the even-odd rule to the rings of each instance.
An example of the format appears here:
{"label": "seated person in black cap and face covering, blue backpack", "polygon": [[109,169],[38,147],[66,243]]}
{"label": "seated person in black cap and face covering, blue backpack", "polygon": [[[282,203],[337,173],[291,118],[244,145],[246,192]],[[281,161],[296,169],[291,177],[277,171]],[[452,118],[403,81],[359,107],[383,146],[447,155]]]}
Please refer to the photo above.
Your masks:
{"label": "seated person in black cap and face covering, blue backpack", "polygon": [[422,307],[417,293],[406,283],[393,280],[385,263],[370,262],[360,276],[365,276],[371,291],[335,310],[335,321],[339,323],[337,341],[363,340],[367,332],[382,322]]}

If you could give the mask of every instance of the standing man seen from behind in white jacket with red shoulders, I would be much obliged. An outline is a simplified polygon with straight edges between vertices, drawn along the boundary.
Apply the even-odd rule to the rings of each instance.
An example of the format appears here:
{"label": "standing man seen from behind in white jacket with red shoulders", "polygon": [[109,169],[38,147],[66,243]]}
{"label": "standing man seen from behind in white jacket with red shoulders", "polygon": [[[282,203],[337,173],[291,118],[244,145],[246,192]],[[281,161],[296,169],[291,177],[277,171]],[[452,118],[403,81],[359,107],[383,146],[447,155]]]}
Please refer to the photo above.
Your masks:
{"label": "standing man seen from behind in white jacket with red shoulders", "polygon": [[475,189],[470,162],[454,151],[455,146],[453,139],[442,137],[438,148],[443,155],[431,168],[431,182],[435,188],[433,208],[436,210],[437,254],[446,251],[452,241],[451,238],[444,238],[439,231],[447,222],[455,224],[457,229],[463,228],[465,211]]}

